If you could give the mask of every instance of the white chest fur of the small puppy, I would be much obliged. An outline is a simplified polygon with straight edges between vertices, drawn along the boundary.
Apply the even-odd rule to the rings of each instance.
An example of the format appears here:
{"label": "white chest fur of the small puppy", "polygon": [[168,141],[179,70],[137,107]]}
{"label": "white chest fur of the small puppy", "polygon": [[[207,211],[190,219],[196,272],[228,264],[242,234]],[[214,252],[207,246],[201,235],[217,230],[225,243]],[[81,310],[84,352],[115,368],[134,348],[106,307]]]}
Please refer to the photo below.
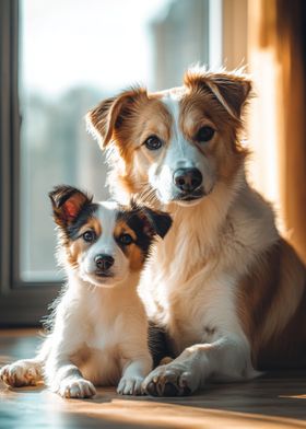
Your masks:
{"label": "white chest fur of the small puppy", "polygon": [[90,291],[81,283],[66,293],[57,311],[69,328],[55,326],[50,340],[57,341],[64,328],[66,347],[75,350],[71,362],[83,376],[96,385],[118,384],[132,348],[146,344],[144,309],[134,287]]}

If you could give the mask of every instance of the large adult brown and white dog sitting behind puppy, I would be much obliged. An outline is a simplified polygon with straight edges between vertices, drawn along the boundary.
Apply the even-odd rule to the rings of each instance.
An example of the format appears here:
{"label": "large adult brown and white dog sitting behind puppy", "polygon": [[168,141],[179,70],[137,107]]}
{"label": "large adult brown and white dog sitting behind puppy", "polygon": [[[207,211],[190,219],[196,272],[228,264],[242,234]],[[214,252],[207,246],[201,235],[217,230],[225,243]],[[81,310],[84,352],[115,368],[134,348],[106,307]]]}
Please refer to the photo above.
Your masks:
{"label": "large adult brown and white dog sitting behind puppy", "polygon": [[191,69],[181,88],[131,89],[87,115],[113,192],[174,219],[140,283],[175,357],[145,379],[153,395],[305,363],[305,267],[246,179],[239,131],[250,89],[242,73]]}

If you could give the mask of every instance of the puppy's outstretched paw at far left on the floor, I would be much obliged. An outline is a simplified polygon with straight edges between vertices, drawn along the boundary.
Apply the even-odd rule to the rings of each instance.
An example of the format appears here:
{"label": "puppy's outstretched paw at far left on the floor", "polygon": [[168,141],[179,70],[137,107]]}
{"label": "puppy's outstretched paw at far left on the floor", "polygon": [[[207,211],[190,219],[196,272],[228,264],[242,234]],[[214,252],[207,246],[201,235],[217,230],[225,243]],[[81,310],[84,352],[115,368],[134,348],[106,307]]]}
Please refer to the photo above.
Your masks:
{"label": "puppy's outstretched paw at far left on the floor", "polygon": [[0,370],[0,378],[12,387],[35,385],[40,380],[42,368],[38,363],[17,360]]}

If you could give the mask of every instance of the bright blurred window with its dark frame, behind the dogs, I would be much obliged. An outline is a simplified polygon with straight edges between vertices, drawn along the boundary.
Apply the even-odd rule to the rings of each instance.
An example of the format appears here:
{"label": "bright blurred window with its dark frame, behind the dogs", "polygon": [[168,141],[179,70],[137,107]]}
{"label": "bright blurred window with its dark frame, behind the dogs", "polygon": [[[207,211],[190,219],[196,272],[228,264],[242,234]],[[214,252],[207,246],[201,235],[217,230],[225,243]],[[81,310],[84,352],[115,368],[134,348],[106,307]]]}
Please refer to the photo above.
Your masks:
{"label": "bright blurred window with its dark frame, behind the dogs", "polygon": [[131,83],[178,85],[190,63],[208,63],[216,3],[0,3],[0,323],[36,324],[59,289],[48,192],[67,183],[107,197],[103,155],[86,134],[85,113]]}

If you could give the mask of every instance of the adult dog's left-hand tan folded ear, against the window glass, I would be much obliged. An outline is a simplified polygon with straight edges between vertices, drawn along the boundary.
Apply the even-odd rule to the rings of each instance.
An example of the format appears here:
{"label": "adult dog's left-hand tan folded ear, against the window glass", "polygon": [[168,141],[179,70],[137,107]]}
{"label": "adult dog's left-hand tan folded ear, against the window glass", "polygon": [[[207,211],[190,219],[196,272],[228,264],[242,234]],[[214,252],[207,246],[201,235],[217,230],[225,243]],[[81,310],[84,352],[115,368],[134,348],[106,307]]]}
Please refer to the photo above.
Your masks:
{"label": "adult dog's left-hand tan folded ear, against the window glass", "polygon": [[146,90],[136,88],[122,92],[117,97],[103,101],[87,113],[87,128],[98,140],[102,149],[116,137],[116,131],[123,127],[126,119],[133,115],[141,101],[146,98]]}

